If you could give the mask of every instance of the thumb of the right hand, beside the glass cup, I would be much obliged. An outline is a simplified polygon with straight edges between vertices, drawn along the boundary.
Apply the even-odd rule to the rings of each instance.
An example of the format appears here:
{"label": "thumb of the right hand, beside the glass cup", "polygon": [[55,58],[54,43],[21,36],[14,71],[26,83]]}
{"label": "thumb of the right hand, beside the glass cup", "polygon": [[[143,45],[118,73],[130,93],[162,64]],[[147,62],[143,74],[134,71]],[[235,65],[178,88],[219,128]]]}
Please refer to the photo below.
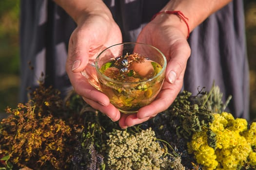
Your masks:
{"label": "thumb of the right hand, beside the glass cup", "polygon": [[170,51],[170,60],[166,67],[166,80],[174,84],[177,77],[186,68],[191,50],[187,41],[181,41],[173,45]]}

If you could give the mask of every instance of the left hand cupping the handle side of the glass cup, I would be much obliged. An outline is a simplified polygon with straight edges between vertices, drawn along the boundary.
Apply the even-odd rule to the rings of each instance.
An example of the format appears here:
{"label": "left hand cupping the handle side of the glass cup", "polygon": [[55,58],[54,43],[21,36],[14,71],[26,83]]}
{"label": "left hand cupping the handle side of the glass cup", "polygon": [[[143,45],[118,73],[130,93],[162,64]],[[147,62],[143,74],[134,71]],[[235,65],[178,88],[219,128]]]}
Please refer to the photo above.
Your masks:
{"label": "left hand cupping the handle side of the glass cup", "polygon": [[84,15],[79,18],[78,27],[70,37],[66,71],[75,91],[85,102],[106,114],[113,121],[120,118],[120,112],[110,102],[109,98],[95,89],[81,71],[88,61],[94,61],[97,54],[105,47],[121,43],[120,29],[112,16],[102,14]]}

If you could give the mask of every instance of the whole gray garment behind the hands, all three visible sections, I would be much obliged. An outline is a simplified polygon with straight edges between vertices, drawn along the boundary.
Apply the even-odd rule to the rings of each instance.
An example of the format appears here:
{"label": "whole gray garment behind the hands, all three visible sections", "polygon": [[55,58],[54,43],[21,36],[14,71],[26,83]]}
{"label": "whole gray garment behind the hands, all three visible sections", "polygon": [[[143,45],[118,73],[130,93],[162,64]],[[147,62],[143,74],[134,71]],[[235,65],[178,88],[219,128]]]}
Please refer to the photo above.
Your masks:
{"label": "whole gray garment behind the hands, all three visible sections", "polygon": [[[168,0],[104,0],[123,34],[135,42],[140,30]],[[21,0],[20,61],[21,102],[26,87],[37,86],[41,72],[47,85],[63,96],[71,89],[65,73],[68,39],[76,24],[51,0]],[[191,34],[192,49],[183,88],[197,94],[198,86],[209,90],[215,81],[225,101],[232,95],[229,111],[249,119],[249,68],[246,55],[243,1],[234,0],[208,17]],[[29,70],[31,61],[34,71]],[[36,78],[37,77],[37,78]]]}

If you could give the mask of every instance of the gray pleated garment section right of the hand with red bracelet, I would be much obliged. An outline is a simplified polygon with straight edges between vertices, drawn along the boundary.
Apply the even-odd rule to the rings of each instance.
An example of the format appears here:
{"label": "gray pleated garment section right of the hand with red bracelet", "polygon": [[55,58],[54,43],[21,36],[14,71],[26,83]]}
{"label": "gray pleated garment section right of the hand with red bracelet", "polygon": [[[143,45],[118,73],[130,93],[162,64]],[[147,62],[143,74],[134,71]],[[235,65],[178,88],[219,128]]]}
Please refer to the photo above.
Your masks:
{"label": "gray pleated garment section right of the hand with red bracelet", "polygon": [[189,38],[192,49],[184,88],[196,94],[197,86],[210,89],[213,81],[229,95],[230,112],[249,119],[249,66],[246,53],[243,1],[234,0],[210,16]]}

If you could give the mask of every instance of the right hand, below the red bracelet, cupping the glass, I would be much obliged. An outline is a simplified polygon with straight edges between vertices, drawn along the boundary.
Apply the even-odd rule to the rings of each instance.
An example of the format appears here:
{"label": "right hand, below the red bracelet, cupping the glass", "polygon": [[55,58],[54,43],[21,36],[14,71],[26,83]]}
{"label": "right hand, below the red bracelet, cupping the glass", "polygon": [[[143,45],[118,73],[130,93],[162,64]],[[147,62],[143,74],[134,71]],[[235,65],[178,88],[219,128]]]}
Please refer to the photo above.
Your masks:
{"label": "right hand, below the red bracelet, cupping the glass", "polygon": [[153,45],[164,53],[167,59],[165,81],[155,101],[140,108],[137,114],[121,116],[120,127],[126,128],[147,121],[166,110],[175,100],[183,85],[190,56],[187,34],[185,23],[175,15],[156,17],[143,28],[137,42]]}

